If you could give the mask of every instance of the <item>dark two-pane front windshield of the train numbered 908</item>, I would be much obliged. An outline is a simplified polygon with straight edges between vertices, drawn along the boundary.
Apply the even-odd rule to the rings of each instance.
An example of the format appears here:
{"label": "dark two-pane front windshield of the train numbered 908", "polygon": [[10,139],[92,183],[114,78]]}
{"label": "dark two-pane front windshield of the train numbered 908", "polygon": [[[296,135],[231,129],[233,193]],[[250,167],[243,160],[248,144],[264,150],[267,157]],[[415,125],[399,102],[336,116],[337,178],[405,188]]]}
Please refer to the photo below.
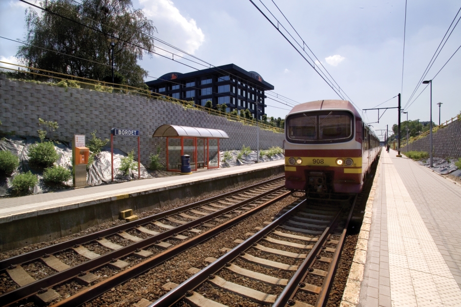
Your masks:
{"label": "dark two-pane front windshield of the train numbered 908", "polygon": [[347,111],[293,114],[286,119],[286,138],[293,143],[330,144],[353,137],[353,115]]}

